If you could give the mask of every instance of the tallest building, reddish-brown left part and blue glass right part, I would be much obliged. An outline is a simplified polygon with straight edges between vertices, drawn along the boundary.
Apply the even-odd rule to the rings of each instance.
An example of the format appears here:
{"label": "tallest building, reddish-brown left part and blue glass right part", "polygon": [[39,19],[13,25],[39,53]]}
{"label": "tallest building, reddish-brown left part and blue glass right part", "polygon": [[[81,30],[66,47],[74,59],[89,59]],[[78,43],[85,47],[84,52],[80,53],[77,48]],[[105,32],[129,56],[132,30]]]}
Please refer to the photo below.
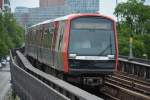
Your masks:
{"label": "tallest building, reddish-brown left part and blue glass right part", "polygon": [[40,7],[64,6],[68,11],[95,13],[99,11],[99,0],[40,0]]}

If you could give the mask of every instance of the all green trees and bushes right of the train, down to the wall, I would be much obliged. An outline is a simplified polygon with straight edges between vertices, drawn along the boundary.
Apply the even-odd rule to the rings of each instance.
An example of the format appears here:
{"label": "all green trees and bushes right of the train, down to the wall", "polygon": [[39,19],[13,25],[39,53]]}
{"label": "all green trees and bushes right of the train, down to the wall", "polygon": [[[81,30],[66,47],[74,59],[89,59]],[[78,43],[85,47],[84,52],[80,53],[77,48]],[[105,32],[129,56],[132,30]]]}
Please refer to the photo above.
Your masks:
{"label": "all green trees and bushes right of the train, down to the wall", "polygon": [[150,58],[150,6],[141,0],[128,0],[118,4],[114,14],[119,18],[119,53],[129,55],[129,37],[132,36],[134,56],[147,54]]}

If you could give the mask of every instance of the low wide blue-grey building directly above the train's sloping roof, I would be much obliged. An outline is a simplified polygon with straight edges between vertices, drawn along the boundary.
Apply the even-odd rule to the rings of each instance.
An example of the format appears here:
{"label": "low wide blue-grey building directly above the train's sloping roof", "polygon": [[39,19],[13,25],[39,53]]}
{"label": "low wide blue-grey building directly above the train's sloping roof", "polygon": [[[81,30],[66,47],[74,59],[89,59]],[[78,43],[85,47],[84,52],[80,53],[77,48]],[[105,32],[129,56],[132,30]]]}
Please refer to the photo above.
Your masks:
{"label": "low wide blue-grey building directly above the train's sloping roof", "polygon": [[64,6],[50,6],[42,8],[29,8],[28,26],[67,15],[68,11]]}

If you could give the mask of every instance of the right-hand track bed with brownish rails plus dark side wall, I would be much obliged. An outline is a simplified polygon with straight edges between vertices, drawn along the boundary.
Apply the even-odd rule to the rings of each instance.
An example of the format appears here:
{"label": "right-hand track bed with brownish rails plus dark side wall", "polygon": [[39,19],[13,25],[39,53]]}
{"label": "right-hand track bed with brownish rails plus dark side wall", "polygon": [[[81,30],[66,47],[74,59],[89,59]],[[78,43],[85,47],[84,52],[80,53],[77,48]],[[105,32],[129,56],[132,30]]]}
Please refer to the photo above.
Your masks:
{"label": "right-hand track bed with brownish rails plus dark side wall", "polygon": [[101,92],[114,100],[150,100],[149,60],[119,58],[118,72],[105,78]]}

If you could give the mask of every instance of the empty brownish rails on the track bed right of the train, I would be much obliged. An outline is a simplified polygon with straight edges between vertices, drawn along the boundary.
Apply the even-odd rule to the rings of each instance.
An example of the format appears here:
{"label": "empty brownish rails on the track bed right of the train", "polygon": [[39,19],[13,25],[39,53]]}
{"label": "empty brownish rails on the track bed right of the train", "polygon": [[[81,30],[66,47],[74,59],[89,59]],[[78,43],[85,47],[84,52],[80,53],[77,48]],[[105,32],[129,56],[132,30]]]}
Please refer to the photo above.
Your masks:
{"label": "empty brownish rails on the track bed right of the train", "polygon": [[150,100],[150,83],[117,74],[106,77],[101,92],[114,100]]}

